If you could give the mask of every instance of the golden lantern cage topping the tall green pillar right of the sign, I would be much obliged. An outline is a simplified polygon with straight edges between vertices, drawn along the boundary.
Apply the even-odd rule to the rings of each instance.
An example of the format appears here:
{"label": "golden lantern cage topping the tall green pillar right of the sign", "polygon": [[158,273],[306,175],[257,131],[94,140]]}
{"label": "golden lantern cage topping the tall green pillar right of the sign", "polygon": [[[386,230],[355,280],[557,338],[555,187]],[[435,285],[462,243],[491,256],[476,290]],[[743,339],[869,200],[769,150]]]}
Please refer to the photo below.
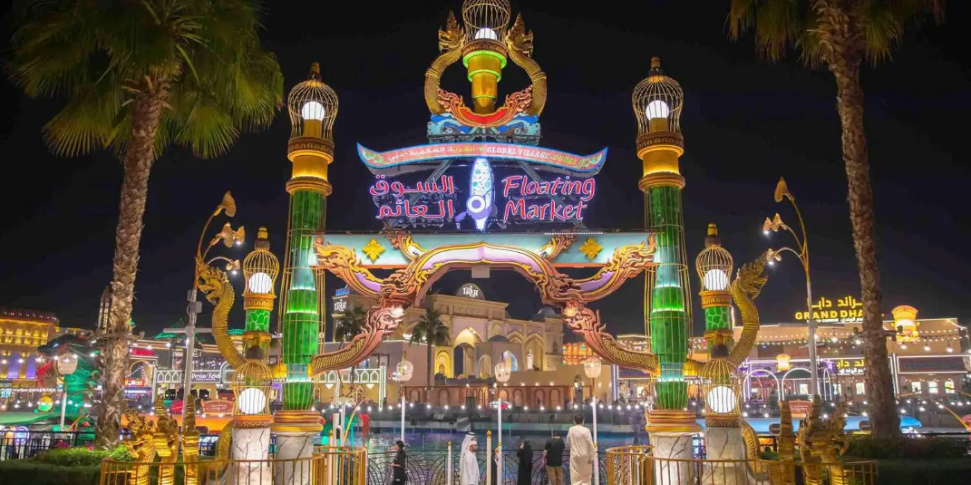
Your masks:
{"label": "golden lantern cage topping the tall green pillar right of the sign", "polygon": [[638,146],[642,137],[659,133],[673,134],[672,138],[680,142],[685,92],[678,81],[664,75],[659,58],[651,59],[651,72],[634,87],[631,101],[637,116]]}

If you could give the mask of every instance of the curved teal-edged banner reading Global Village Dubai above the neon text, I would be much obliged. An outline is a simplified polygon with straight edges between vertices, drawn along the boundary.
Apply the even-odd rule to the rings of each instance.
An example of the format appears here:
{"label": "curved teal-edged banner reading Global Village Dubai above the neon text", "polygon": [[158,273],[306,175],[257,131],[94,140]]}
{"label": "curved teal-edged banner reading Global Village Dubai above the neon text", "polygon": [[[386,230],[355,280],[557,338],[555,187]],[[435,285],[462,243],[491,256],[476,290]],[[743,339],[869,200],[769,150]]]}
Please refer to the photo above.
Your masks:
{"label": "curved teal-edged banner reading Global Village Dubai above the neon text", "polygon": [[432,160],[486,157],[546,165],[579,177],[590,177],[600,172],[607,160],[607,148],[583,156],[540,146],[495,143],[432,144],[388,151],[374,151],[357,144],[357,154],[374,173]]}

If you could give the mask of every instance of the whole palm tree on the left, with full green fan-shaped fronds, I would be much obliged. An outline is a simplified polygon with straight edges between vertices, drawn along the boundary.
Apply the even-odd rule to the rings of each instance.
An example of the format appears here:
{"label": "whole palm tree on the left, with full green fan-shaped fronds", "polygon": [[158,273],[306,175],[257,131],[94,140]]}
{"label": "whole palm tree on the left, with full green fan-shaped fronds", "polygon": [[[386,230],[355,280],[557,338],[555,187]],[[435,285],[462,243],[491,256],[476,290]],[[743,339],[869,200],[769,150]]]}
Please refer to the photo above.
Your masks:
{"label": "whole palm tree on the left, with full green fan-shaped fronds", "polygon": [[44,126],[57,155],[107,148],[124,174],[115,232],[98,446],[118,439],[128,320],[152,163],[169,145],[217,156],[268,126],[283,102],[276,57],[260,47],[254,0],[27,0],[8,66],[30,97],[64,108]]}

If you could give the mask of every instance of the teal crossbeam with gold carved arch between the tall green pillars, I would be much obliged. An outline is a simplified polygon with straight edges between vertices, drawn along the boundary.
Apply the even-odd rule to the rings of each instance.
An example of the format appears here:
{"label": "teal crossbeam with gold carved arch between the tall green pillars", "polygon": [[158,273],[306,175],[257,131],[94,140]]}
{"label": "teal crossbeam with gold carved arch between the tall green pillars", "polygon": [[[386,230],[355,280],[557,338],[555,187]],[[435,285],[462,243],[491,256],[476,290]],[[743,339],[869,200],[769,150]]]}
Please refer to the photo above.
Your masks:
{"label": "teal crossbeam with gold carved arch between the tall green pillars", "polygon": [[[616,291],[628,278],[653,264],[655,248],[650,233],[586,233],[574,246],[573,233],[412,235],[389,232],[387,250],[371,234],[318,236],[314,243],[318,269],[343,279],[358,294],[378,300],[368,310],[363,332],[334,352],[318,355],[309,366],[311,375],[350,367],[372,353],[392,334],[404,317],[404,308],[419,306],[431,285],[452,270],[473,267],[512,270],[532,281],[544,305],[562,308],[571,330],[583,336],[600,355],[633,369],[653,371],[648,354],[623,349],[603,332],[599,315],[586,307]],[[431,249],[425,249],[425,244]],[[593,268],[586,278],[573,278],[557,267]],[[394,269],[378,277],[372,269]],[[477,370],[482,371],[482,370]]]}

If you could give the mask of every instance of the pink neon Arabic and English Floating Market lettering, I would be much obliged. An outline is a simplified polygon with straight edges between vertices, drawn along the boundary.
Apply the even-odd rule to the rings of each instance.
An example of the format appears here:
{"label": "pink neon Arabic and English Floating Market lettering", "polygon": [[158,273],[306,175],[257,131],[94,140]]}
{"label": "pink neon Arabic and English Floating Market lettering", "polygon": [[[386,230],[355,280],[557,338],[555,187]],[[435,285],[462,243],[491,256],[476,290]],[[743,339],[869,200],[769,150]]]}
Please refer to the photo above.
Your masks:
{"label": "pink neon Arabic and English Floating Market lettering", "polygon": [[[503,178],[502,195],[506,204],[502,212],[502,221],[509,222],[510,218],[518,217],[522,220],[535,222],[568,222],[583,220],[584,210],[589,207],[586,203],[596,194],[596,180],[594,178],[571,179],[557,177],[552,180],[533,180],[526,176]],[[387,181],[385,176],[378,176],[378,180],[371,186],[370,194],[374,197],[389,196],[393,199],[390,204],[378,206],[378,218],[391,217],[447,219],[452,220],[455,215],[455,182],[451,176],[443,176],[438,180],[418,182],[414,187],[394,180]],[[410,195],[419,198],[437,195],[437,201],[427,203],[413,202]],[[550,197],[549,202],[537,204],[531,202],[535,197]],[[577,200],[575,204],[559,202],[560,198]]]}

